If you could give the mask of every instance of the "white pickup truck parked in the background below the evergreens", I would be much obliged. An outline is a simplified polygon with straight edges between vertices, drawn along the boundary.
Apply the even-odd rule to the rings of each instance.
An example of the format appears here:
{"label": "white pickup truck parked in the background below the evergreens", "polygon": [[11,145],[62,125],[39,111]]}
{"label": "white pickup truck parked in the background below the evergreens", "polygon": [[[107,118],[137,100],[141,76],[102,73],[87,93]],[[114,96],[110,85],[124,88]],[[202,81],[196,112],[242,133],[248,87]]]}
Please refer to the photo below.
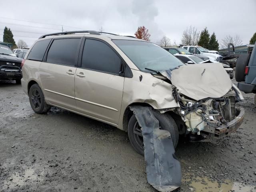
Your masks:
{"label": "white pickup truck parked in the background below the evergreens", "polygon": [[182,46],[182,48],[188,50],[190,53],[193,53],[194,55],[203,55],[203,56],[207,56],[209,58],[214,58],[214,60],[218,61],[218,62],[222,62],[223,61],[223,57],[219,54],[216,53],[212,53],[212,52],[208,52],[208,50],[206,50],[205,48],[201,47],[201,46]]}

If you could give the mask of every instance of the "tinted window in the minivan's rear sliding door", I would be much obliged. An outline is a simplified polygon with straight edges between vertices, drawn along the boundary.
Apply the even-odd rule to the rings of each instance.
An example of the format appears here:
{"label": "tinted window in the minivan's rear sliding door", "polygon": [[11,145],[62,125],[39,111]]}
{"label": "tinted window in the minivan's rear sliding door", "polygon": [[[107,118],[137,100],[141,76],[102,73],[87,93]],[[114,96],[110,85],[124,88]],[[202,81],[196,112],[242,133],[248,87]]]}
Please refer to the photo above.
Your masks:
{"label": "tinted window in the minivan's rear sliding door", "polygon": [[74,66],[80,38],[55,39],[48,51],[46,62]]}

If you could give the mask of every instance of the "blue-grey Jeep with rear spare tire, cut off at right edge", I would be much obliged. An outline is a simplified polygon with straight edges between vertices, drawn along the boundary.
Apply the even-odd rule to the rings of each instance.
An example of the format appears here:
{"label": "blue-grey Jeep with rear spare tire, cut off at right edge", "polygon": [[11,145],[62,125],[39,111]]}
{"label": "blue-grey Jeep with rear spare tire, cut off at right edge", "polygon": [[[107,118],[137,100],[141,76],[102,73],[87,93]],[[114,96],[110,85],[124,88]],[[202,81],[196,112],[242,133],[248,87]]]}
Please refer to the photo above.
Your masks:
{"label": "blue-grey Jeep with rear spare tire, cut off at right edge", "polygon": [[[256,46],[256,43],[255,43]],[[245,93],[256,94],[256,48],[251,54],[240,54],[236,61],[236,81],[238,88]],[[256,95],[254,96],[256,105]]]}

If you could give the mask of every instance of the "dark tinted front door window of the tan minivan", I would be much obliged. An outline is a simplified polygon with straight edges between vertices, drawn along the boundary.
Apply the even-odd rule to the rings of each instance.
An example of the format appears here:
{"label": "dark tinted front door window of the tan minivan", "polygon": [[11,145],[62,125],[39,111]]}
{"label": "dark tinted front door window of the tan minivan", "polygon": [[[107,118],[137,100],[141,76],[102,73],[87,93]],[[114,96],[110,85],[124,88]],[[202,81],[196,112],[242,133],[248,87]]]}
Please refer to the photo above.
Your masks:
{"label": "dark tinted front door window of the tan minivan", "polygon": [[82,67],[92,70],[118,74],[121,59],[105,43],[86,39],[82,55]]}

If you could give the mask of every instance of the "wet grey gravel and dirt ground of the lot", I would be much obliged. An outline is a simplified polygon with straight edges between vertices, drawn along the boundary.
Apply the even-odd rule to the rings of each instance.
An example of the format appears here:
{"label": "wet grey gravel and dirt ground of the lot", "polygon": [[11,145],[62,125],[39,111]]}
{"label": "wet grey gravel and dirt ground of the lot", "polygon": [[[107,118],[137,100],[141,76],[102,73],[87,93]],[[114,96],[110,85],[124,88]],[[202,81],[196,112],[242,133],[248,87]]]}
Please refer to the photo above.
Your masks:
{"label": "wet grey gravel and dirt ground of the lot", "polygon": [[[244,96],[244,123],[220,144],[180,138],[176,191],[256,191],[256,107]],[[0,191],[155,190],[126,132],[58,108],[35,114],[20,85],[0,82]]]}

